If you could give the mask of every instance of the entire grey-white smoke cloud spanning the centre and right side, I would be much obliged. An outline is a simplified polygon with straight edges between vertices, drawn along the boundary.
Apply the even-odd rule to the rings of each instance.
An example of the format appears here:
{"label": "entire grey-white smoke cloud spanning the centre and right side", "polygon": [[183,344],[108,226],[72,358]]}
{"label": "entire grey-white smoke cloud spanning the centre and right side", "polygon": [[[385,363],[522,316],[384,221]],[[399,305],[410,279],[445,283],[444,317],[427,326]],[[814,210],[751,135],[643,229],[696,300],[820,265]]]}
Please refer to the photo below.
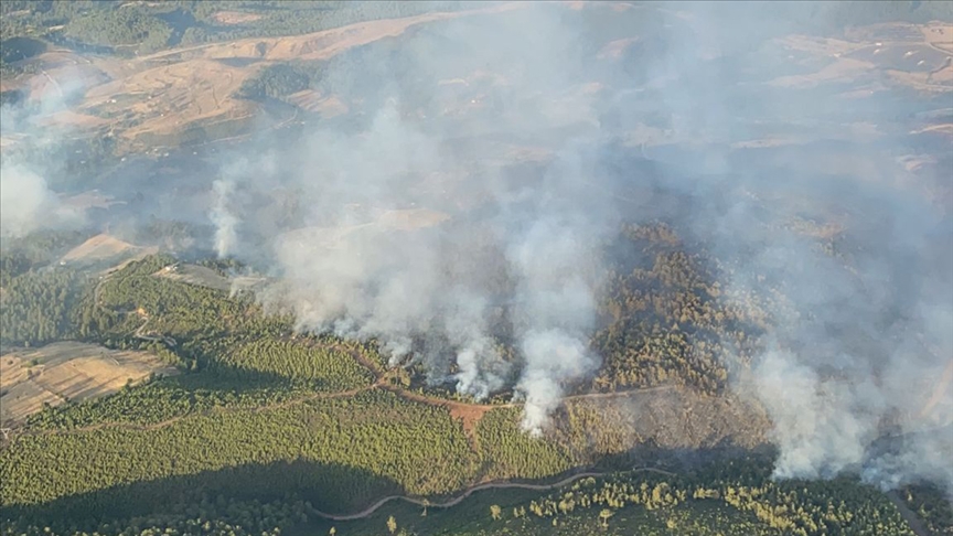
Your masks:
{"label": "entire grey-white smoke cloud spanning the centre and right side", "polygon": [[[949,207],[885,156],[917,151],[906,128],[869,143],[853,130],[915,106],[779,84],[811,67],[763,40],[796,30],[784,17],[708,3],[655,20],[645,8],[640,39],[613,60],[596,9],[609,10],[461,19],[421,30],[436,37],[396,60],[364,56],[358,74],[332,63],[330,90],[377,103],[366,128],[224,169],[219,254],[272,270],[261,299],[301,330],[375,337],[392,364],[420,363],[478,398],[513,388],[538,433],[601,362],[588,344],[601,244],[623,219],[663,219],[721,259],[728,299],[764,300],[764,350],[734,364],[732,388],[771,416],[778,478],[857,471],[953,489]],[[794,141],[746,146],[772,136]],[[804,221],[843,224],[836,255],[792,229]],[[881,441],[888,430],[899,440]]]}

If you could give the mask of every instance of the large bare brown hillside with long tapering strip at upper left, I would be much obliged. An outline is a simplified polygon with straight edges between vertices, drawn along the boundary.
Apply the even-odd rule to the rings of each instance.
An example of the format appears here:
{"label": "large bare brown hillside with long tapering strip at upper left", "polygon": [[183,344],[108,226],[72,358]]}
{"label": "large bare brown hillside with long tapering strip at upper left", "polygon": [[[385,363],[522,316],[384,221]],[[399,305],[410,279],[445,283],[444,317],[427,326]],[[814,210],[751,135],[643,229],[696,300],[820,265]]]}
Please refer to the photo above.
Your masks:
{"label": "large bare brown hillside with long tapering strip at upper left", "polygon": [[[3,87],[26,87],[34,99],[82,90],[84,99],[72,114],[50,120],[87,132],[108,128],[116,135],[120,152],[136,151],[149,144],[178,144],[178,135],[190,128],[249,121],[257,115],[258,106],[234,95],[245,79],[272,62],[326,60],[355,46],[400,35],[417,24],[518,7],[514,2],[472,11],[370,21],[304,35],[208,43],[136,58],[86,58],[57,50],[36,60],[43,67],[39,74],[4,79]],[[215,14],[226,24],[246,22],[249,17],[257,15],[237,11]],[[232,58],[251,62],[240,67],[222,62]],[[326,116],[347,112],[347,107],[334,96],[301,94],[297,98],[306,109],[313,108]]]}

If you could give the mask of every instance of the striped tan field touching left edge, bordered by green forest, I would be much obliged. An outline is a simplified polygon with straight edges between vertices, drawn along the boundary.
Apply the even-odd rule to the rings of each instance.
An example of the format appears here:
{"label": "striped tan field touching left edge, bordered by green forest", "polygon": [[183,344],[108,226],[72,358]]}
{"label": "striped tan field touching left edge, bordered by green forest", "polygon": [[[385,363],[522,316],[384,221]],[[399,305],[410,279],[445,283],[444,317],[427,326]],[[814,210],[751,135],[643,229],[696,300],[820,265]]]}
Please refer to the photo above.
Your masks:
{"label": "striped tan field touching left edge, bordered by green forest", "polygon": [[0,356],[0,422],[3,427],[22,422],[43,409],[43,403],[57,406],[67,399],[108,395],[152,373],[173,375],[176,371],[147,352],[77,342],[4,353]]}

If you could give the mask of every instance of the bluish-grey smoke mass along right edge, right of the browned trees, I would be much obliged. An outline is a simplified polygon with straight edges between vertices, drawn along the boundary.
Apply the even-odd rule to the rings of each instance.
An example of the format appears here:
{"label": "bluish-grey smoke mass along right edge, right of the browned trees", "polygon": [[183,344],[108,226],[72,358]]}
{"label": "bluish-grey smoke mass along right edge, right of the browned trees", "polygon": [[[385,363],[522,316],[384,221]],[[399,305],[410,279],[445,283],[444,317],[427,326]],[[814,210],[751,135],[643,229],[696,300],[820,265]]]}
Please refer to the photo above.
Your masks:
{"label": "bluish-grey smoke mass along right edge, right of the browned trees", "polygon": [[[722,52],[739,44],[743,32],[731,32],[739,24],[773,26],[779,35],[796,30],[743,10],[711,9],[720,11],[699,7],[693,21]],[[717,30],[715,21],[722,24]],[[710,140],[694,158],[657,153],[687,179],[653,182],[695,200],[688,214],[661,216],[674,216],[730,266],[729,296],[771,300],[764,351],[735,388],[753,392],[770,415],[780,479],[852,471],[885,489],[927,479],[953,493],[953,388],[943,374],[953,366],[953,234],[944,226],[951,207],[884,152],[919,152],[911,140],[887,133],[864,143],[850,136],[850,124],[865,120],[890,132],[899,110],[915,100],[886,93],[856,101],[838,87],[781,89],[774,81],[783,73],[751,50],[736,55],[730,71],[687,60],[677,46],[655,67],[672,75],[675,65],[682,81],[665,90],[673,116],[692,111],[689,122],[674,124],[674,137],[690,127]],[[750,97],[747,109],[739,108],[742,97]],[[812,121],[813,144],[728,150],[789,117]],[[845,141],[824,148],[825,138]],[[812,221],[843,225],[835,255],[790,225]]]}

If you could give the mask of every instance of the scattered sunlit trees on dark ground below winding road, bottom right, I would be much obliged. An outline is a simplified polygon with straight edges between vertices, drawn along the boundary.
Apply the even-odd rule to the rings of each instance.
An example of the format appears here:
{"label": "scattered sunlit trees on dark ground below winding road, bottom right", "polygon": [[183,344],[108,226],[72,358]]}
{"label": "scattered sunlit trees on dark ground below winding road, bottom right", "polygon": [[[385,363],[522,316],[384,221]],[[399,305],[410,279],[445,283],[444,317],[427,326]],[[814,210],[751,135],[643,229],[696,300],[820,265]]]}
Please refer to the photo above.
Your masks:
{"label": "scattered sunlit trees on dark ground below winding road, bottom right", "polygon": [[[705,468],[687,478],[630,472],[606,480],[588,479],[568,491],[532,501],[525,510],[527,515],[557,524],[561,517],[571,518],[582,511],[590,519],[598,517],[603,527],[633,507],[658,512],[668,530],[656,534],[717,534],[719,529],[736,534],[913,534],[897,508],[872,487],[848,479],[775,483],[767,479],[767,467],[747,460]],[[686,503],[724,504],[753,516],[747,523],[732,521],[727,526],[715,516],[699,525],[688,512],[678,512],[678,505]]]}

